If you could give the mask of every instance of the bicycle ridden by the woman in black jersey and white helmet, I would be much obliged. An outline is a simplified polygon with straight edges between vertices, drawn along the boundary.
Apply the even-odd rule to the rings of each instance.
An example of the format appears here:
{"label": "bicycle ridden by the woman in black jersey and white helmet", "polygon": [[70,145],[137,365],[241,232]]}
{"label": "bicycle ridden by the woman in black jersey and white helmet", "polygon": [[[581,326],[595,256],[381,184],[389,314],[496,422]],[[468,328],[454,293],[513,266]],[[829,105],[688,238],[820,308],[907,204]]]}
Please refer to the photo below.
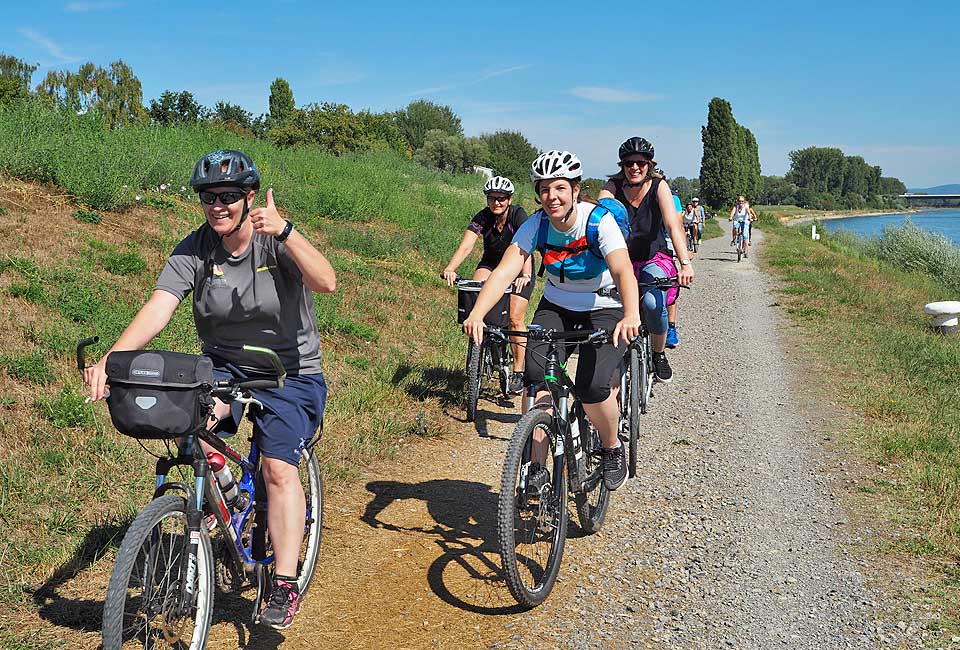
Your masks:
{"label": "bicycle ridden by the woman in black jersey and white helmet", "polygon": [[[441,277],[443,277],[441,275]],[[457,276],[454,280],[457,287],[457,320],[463,323],[473,304],[476,302],[477,294],[483,288],[482,280],[471,280]],[[510,319],[510,295],[513,293],[513,285],[507,287],[504,297],[500,302],[490,310],[488,314],[488,324],[503,326]],[[496,374],[499,378],[500,392],[505,399],[510,398],[510,378],[513,374],[513,348],[509,341],[506,344],[494,342],[489,337],[484,337],[480,345],[476,345],[473,339],[467,343],[467,382],[464,390],[464,402],[466,404],[467,422],[473,422],[477,418],[477,403],[480,400],[480,391],[483,384]]]}

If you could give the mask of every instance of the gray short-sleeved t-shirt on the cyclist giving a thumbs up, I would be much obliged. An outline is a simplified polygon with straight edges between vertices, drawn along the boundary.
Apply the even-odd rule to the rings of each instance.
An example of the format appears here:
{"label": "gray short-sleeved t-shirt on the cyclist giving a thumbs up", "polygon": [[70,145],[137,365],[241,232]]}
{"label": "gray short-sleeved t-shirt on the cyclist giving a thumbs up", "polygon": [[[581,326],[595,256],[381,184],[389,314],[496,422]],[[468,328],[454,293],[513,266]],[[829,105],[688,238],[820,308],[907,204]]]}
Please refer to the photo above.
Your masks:
{"label": "gray short-sleeved t-shirt on the cyclist giving a thumbs up", "polygon": [[193,291],[204,354],[264,371],[263,357],[242,349],[258,345],[276,352],[290,373],[320,372],[313,292],[287,247],[273,237],[254,233],[250,246],[233,257],[203,225],[174,249],[156,288],[180,300]]}

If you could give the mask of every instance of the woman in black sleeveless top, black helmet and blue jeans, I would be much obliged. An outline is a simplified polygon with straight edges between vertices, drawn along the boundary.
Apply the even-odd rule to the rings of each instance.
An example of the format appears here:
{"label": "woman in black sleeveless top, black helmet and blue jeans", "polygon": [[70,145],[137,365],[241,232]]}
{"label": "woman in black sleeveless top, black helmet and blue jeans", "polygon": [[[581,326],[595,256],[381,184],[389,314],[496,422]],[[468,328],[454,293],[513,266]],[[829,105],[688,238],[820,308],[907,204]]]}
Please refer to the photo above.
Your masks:
{"label": "woman in black sleeveless top, black helmet and blue jeans", "polygon": [[[620,145],[620,171],[611,176],[600,191],[600,198],[612,197],[620,201],[630,216],[630,236],[627,247],[637,280],[651,282],[654,278],[677,275],[666,243],[665,233],[673,240],[673,249],[680,260],[680,282],[693,281],[693,264],[687,250],[687,238],[674,207],[670,186],[661,174],[654,172],[653,145],[647,140],[632,137]],[[677,289],[671,289],[677,292]],[[664,352],[667,342],[667,303],[673,295],[655,287],[642,289],[643,318],[650,332],[653,365],[656,378],[669,382],[673,370]],[[676,326],[674,325],[674,332]],[[675,333],[674,333],[675,336]]]}

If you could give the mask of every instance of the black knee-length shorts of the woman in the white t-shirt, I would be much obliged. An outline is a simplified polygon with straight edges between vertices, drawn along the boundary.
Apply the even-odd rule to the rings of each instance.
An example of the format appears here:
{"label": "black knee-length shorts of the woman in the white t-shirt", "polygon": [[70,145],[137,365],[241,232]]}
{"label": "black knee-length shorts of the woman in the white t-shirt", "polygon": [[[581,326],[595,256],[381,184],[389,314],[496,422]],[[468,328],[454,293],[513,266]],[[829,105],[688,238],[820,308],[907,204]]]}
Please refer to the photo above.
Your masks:
{"label": "black knee-length shorts of the woman in the white t-shirt", "polygon": [[[537,313],[533,316],[533,324],[542,325],[544,329],[556,330],[595,330],[600,327],[613,333],[613,328],[623,319],[622,308],[596,309],[594,311],[571,311],[558,307],[546,299],[541,299],[537,305]],[[560,360],[567,358],[569,352],[577,344],[560,347]],[[524,377],[527,382],[538,383],[543,381],[544,355],[547,353],[548,343],[527,343],[525,355]],[[570,349],[564,349],[569,347]],[[597,404],[610,396],[610,387],[620,382],[620,373],[623,366],[624,344],[618,341],[614,346],[606,343],[599,348],[594,345],[580,346],[580,355],[577,360],[577,376],[574,380],[577,395],[584,404]]]}

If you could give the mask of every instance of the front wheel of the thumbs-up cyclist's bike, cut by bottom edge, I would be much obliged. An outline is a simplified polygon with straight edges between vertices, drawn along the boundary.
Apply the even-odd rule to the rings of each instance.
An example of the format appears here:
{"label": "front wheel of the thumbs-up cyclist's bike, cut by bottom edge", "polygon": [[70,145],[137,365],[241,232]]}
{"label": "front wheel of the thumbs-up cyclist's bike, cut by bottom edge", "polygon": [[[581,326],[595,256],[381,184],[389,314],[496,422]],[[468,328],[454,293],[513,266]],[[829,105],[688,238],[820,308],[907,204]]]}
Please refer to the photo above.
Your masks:
{"label": "front wheel of the thumbs-up cyclist's bike, cut by bottom edge", "polygon": [[213,553],[201,526],[193,577],[195,600],[178,602],[185,579],[187,502],[181,495],[154,499],[130,524],[103,604],[103,648],[206,647],[213,614]]}

